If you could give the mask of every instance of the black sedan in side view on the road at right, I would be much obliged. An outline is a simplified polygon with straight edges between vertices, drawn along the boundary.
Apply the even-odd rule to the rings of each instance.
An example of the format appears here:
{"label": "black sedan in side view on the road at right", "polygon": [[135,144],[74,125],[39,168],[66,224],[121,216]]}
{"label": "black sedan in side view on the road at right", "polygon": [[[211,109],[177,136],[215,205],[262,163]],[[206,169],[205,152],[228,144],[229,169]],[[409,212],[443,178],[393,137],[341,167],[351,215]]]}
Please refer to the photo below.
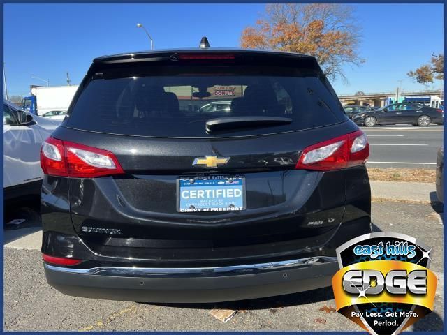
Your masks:
{"label": "black sedan in side view on the road at right", "polygon": [[439,108],[417,103],[393,103],[379,110],[358,113],[352,120],[360,126],[374,127],[385,124],[413,124],[427,127],[444,124],[444,113]]}

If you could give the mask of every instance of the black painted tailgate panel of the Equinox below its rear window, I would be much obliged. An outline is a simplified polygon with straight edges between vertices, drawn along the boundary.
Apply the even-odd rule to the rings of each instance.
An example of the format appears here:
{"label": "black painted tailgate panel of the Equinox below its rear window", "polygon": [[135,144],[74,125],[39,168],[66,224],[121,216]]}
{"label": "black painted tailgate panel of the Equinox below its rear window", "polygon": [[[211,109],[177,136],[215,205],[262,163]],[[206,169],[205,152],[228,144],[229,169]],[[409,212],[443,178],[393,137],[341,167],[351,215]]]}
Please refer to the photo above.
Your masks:
{"label": "black painted tailgate panel of the Equinox below its rear window", "polygon": [[[337,136],[345,128],[332,126],[329,130],[330,136]],[[124,176],[70,179],[75,230],[80,234],[82,227],[120,230],[115,236],[83,232],[95,239],[213,240],[226,245],[241,243],[240,239],[248,243],[248,238],[272,241],[322,234],[342,221],[346,172],[293,168],[314,135],[328,137],[323,133],[328,129],[244,140],[178,142],[122,136],[103,140],[98,134],[66,130],[64,138],[71,142],[114,152],[126,171]],[[276,140],[284,145],[274,152]],[[144,149],[129,154],[135,147]],[[231,163],[212,172],[192,165],[196,157],[217,152],[230,157]],[[208,175],[244,177],[246,209],[179,213],[177,180]]]}

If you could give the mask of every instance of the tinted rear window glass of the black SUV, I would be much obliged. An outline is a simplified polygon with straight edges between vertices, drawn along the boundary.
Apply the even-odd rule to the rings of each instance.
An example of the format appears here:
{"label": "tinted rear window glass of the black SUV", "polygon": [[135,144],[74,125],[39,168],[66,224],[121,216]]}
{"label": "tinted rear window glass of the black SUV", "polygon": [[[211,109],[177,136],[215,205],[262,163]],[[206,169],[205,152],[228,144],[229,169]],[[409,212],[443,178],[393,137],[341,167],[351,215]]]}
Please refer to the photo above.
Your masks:
{"label": "tinted rear window glass of the black SUV", "polygon": [[[154,66],[103,70],[85,80],[66,126],[153,137],[228,137],[299,131],[344,121],[316,70],[274,66]],[[291,124],[207,133],[225,117],[287,117]]]}

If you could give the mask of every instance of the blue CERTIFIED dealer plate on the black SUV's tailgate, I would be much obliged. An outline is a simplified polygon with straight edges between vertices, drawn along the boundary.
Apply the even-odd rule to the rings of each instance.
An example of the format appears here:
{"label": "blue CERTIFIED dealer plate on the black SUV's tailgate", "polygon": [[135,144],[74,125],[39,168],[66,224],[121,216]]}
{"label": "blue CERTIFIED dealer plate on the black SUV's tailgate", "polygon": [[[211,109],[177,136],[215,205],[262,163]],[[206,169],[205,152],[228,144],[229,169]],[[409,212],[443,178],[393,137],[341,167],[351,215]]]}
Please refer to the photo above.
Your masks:
{"label": "blue CERTIFIED dealer plate on the black SUV's tailgate", "polygon": [[180,177],[177,211],[181,213],[242,211],[245,209],[243,176]]}

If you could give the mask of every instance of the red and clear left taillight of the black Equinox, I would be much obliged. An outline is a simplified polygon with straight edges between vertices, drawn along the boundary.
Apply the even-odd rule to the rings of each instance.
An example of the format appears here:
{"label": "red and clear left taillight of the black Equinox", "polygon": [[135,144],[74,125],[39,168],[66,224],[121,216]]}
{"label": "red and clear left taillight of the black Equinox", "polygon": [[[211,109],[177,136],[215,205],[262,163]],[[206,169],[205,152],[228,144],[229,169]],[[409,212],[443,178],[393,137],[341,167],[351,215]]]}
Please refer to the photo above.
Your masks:
{"label": "red and clear left taillight of the black Equinox", "polygon": [[94,178],[124,171],[110,151],[48,138],[41,147],[43,173],[52,176]]}

